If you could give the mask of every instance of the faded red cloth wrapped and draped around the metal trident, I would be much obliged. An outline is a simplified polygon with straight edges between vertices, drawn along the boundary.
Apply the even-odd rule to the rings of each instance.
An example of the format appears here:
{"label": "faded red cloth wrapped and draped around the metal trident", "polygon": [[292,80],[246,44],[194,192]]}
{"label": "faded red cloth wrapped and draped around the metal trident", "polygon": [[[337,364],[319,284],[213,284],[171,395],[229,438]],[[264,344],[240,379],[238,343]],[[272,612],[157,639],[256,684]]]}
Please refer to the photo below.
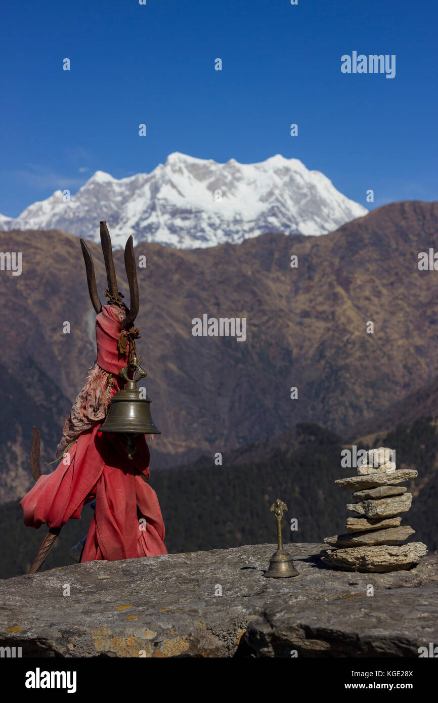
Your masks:
{"label": "faded red cloth wrapped and draped around the metal trident", "polygon": [[[127,364],[127,354],[117,351],[121,319],[122,312],[112,305],[103,306],[96,317],[98,354],[90,373],[91,378],[94,378],[93,373],[100,374],[96,376],[96,384],[103,383],[105,389],[109,373],[115,374],[111,394],[119,389],[116,375]],[[96,404],[96,397],[101,398],[100,406]],[[143,434],[134,439],[137,451],[133,460],[129,460],[124,449],[126,441],[120,435],[99,433],[108,403],[106,393],[99,393],[90,381],[85,385],[67,418],[64,434],[71,438],[75,437],[75,428],[82,431],[56,470],[41,475],[22,499],[25,524],[28,527],[41,524],[62,527],[70,518],[81,517],[84,504],[96,498],[96,512],[82,562],[167,554],[163,543],[165,525],[157,495],[143,480],[143,477],[149,478],[146,437]],[[99,413],[104,414],[101,420],[96,420]]]}

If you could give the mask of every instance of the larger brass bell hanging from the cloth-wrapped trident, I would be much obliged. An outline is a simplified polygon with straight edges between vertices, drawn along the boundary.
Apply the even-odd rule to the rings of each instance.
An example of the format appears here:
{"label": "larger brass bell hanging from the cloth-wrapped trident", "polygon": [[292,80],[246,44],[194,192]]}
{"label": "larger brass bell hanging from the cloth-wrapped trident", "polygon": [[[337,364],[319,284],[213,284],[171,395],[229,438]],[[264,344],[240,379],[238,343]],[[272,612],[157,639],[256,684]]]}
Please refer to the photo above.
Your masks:
{"label": "larger brass bell hanging from the cloth-wrapped trident", "polygon": [[[129,378],[129,372],[134,372],[133,378]],[[135,378],[137,373],[139,376]],[[100,432],[127,434],[129,438],[127,451],[130,459],[136,451],[132,444],[134,437],[138,434],[161,434],[150,415],[150,398],[148,396],[142,398],[137,388],[137,382],[147,375],[134,356],[132,363],[125,366],[119,373],[120,378],[124,378],[126,382],[125,386],[112,396],[110,410],[100,429]]]}

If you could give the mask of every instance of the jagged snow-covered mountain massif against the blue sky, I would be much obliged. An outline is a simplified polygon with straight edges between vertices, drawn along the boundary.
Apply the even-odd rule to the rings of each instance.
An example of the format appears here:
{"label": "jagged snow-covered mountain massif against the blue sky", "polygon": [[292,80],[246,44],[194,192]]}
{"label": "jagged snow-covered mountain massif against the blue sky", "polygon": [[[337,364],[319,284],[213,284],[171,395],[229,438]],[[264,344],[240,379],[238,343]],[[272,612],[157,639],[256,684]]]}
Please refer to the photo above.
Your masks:
{"label": "jagged snow-covered mountain massif against the blue sky", "polygon": [[324,234],[366,212],[298,159],[221,164],[176,151],[149,174],[115,179],[96,171],[70,200],[56,191],[16,219],[0,215],[0,229],[61,229],[98,241],[104,219],[115,246],[132,234],[135,243],[193,248],[269,231]]}

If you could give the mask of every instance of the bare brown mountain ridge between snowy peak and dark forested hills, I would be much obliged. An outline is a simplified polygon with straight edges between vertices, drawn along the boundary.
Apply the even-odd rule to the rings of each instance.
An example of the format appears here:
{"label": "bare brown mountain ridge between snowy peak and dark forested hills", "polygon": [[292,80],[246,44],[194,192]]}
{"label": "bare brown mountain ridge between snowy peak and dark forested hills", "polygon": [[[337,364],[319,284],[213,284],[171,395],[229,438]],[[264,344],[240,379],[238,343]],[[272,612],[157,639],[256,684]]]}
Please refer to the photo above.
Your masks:
{"label": "bare brown mountain ridge between snowy peak and dark forested hills", "polygon": [[[438,250],[438,203],[428,202],[387,205],[321,237],[269,234],[191,251],[140,245],[147,268],[138,270],[137,346],[162,430],[151,466],[230,451],[297,422],[340,431],[434,380],[438,273],[417,267],[429,247]],[[103,259],[99,247],[91,250],[103,299]],[[75,398],[95,358],[79,241],[56,231],[2,232],[0,251],[22,252],[21,276],[0,271],[3,377],[15,379],[15,399],[29,411],[20,420],[22,451],[32,423],[46,422],[51,460],[65,399]],[[115,259],[126,292],[122,252]],[[192,318],[202,314],[247,318],[247,340],[193,337]],[[298,399],[290,399],[292,386]],[[48,388],[53,416],[30,412],[27,396],[38,406]],[[9,439],[1,431],[3,500],[23,490],[18,479],[15,494],[11,486],[17,458],[6,451]]]}

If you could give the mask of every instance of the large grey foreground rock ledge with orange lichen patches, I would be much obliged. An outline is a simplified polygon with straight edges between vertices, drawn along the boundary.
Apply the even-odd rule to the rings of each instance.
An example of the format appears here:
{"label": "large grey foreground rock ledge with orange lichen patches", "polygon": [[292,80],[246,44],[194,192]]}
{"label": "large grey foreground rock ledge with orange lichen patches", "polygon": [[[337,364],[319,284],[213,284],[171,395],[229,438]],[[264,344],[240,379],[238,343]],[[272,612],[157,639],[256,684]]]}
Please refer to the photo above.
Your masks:
{"label": "large grey foreground rock ledge with orange lichen patches", "polygon": [[0,646],[23,657],[290,659],[418,657],[438,643],[436,555],[410,571],[352,574],[325,565],[323,548],[288,543],[292,579],[264,578],[276,545],[259,544],[0,581]]}

